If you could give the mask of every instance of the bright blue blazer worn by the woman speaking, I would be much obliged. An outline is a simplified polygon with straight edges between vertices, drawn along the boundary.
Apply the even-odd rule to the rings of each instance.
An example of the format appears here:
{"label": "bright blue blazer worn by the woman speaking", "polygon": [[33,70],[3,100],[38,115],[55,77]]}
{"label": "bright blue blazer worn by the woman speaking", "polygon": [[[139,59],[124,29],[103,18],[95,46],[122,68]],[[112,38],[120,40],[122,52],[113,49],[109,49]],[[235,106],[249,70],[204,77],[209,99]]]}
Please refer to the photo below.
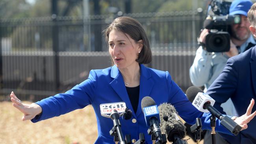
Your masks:
{"label": "bright blue blazer worn by the woman speaking", "polygon": [[[195,119],[200,117],[203,127],[210,129],[210,114],[201,113],[193,107],[189,100],[187,100],[184,92],[171,79],[169,72],[147,68],[144,65],[140,65],[140,72],[139,105],[137,112],[132,113],[130,120],[122,120],[120,118],[124,136],[130,134],[132,139],[138,140],[139,133],[144,133],[146,143],[152,143],[150,135],[147,134],[148,127],[146,126],[144,114],[141,109],[141,100],[145,96],[152,97],[157,105],[164,102],[171,103],[179,115],[190,124],[194,124]],[[92,105],[98,125],[98,138],[95,143],[109,144],[113,143],[113,137],[109,135],[109,130],[113,127],[113,121],[110,118],[101,116],[100,104],[113,102],[125,102],[126,107],[133,111],[119,69],[116,66],[112,66],[102,70],[91,70],[89,78],[71,90],[64,94],[57,94],[37,102],[42,107],[43,112],[41,116],[32,119],[32,122],[45,120],[75,109],[81,109],[87,105]],[[136,119],[136,122],[133,123],[132,119]],[[219,122],[216,124],[216,131],[229,133],[224,127],[219,126]]]}

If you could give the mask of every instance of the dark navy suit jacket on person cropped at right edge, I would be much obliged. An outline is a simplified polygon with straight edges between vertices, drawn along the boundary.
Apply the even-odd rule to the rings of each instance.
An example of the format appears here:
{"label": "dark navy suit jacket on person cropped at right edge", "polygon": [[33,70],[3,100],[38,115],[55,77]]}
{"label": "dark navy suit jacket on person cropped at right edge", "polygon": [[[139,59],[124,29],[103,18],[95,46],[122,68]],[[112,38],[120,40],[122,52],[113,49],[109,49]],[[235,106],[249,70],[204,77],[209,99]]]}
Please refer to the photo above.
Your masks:
{"label": "dark navy suit jacket on person cropped at right edge", "polygon": [[[223,72],[206,93],[216,101],[214,107],[221,113],[224,113],[221,103],[231,98],[239,116],[245,114],[250,100],[256,99],[256,46],[228,59]],[[252,112],[255,110],[254,105]],[[222,136],[231,144],[256,144],[255,128],[256,118],[236,137],[224,134]]]}

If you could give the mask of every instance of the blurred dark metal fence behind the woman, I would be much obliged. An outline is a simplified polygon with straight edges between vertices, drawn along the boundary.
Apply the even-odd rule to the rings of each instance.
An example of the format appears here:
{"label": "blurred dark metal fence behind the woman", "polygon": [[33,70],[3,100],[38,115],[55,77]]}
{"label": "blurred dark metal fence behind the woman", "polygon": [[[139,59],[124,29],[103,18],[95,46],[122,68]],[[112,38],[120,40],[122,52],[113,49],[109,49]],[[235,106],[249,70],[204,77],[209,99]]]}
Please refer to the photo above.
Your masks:
{"label": "blurred dark metal fence behind the woman", "polygon": [[[168,70],[183,89],[202,28],[202,13],[124,14],[143,25],[153,59],[147,66]],[[1,95],[41,100],[87,79],[91,69],[111,66],[102,30],[115,15],[0,19]]]}

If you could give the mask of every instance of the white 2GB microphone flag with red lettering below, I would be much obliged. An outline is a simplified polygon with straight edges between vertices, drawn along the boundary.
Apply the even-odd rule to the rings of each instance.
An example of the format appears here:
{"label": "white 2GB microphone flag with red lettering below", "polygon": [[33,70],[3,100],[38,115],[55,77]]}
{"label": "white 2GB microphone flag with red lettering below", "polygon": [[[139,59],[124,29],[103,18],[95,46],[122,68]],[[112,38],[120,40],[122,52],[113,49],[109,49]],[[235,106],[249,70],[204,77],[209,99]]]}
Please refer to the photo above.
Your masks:
{"label": "white 2GB microphone flag with red lettering below", "polygon": [[103,103],[100,104],[101,114],[110,114],[111,111],[116,110],[117,113],[124,113],[126,109],[125,102],[115,102],[115,103]]}

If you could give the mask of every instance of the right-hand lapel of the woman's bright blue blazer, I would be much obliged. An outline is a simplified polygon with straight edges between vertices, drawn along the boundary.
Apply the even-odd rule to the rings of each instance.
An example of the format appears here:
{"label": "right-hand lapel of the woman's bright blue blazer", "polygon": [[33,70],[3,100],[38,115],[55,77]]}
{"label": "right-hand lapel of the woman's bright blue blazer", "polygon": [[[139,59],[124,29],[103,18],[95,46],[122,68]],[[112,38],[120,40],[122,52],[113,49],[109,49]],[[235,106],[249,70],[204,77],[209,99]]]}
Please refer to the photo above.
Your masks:
{"label": "right-hand lapel of the woman's bright blue blazer", "polygon": [[141,100],[145,96],[150,96],[150,92],[152,87],[154,86],[154,82],[152,81],[151,74],[148,69],[144,65],[140,65],[141,70],[141,78],[140,78],[140,86],[139,86],[139,105],[136,112],[136,115],[139,116],[142,113],[141,109]]}

